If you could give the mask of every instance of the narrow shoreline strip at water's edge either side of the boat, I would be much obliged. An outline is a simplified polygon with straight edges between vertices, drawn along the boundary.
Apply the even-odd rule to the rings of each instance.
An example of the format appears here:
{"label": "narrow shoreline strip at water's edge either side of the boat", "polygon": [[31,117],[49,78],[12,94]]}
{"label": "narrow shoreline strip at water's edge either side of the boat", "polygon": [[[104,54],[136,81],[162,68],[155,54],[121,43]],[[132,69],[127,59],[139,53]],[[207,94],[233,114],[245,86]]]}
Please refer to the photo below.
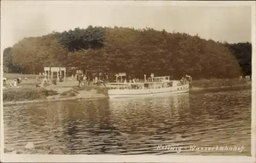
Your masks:
{"label": "narrow shoreline strip at water's edge either side of the boat", "polygon": [[[189,92],[202,92],[202,91],[210,91],[210,90],[225,90],[230,88],[240,88],[240,89],[249,89],[251,88],[251,84],[237,85],[237,86],[222,86],[222,87],[193,87],[189,90]],[[89,91],[87,91],[89,92]],[[109,98],[104,94],[94,94],[87,96],[80,96],[80,94],[72,97],[60,97],[58,95],[48,96],[46,99],[34,99],[34,100],[22,100],[22,101],[4,101],[3,106],[16,105],[16,104],[29,104],[29,103],[40,103],[40,102],[55,102],[55,101],[68,101],[68,100],[91,100],[91,99],[104,99]]]}

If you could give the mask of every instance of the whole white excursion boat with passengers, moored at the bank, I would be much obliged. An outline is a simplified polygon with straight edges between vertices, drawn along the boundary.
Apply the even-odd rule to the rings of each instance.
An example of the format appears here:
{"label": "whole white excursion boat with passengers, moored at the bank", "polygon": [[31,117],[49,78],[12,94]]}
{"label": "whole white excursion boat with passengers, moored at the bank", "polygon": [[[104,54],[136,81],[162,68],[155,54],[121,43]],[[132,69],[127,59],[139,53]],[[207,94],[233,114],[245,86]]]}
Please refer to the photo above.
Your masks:
{"label": "whole white excursion boat with passengers, moored at the bank", "polygon": [[[144,75],[145,76],[145,75]],[[108,95],[110,98],[127,98],[154,96],[163,94],[178,94],[189,92],[187,80],[170,80],[169,76],[150,77],[145,82],[138,83],[109,83]]]}

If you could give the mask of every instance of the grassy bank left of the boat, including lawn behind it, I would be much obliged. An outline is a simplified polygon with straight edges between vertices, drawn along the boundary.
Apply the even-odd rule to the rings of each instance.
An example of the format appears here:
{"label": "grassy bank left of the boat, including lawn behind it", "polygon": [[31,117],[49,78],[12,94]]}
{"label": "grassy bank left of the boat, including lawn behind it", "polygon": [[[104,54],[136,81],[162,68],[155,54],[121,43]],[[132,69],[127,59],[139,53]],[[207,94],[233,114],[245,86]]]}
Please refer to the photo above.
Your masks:
{"label": "grassy bank left of the boat, including lawn behind it", "polygon": [[4,76],[8,79],[7,83],[12,82],[12,79],[15,77],[29,78],[29,80],[23,80],[18,85],[20,88],[12,88],[7,85],[7,88],[3,90],[5,105],[108,97],[106,88],[96,86],[83,86],[80,88],[77,86],[78,82],[76,80],[67,80],[67,82],[58,83],[46,88],[36,88],[35,85],[40,84],[35,79],[37,75],[5,73]]}

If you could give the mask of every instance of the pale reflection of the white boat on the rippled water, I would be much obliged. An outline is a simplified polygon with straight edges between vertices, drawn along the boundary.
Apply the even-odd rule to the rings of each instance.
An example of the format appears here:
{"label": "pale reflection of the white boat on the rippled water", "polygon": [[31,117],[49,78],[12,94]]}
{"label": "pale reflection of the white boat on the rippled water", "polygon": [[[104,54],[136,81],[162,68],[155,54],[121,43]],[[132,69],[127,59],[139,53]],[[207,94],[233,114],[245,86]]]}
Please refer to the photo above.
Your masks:
{"label": "pale reflection of the white boat on the rippled water", "polygon": [[[164,97],[109,99],[111,121],[121,132],[153,134],[165,125],[177,125],[189,108],[189,94],[170,94]],[[179,121],[179,122],[178,122]],[[157,131],[158,130],[158,131]]]}

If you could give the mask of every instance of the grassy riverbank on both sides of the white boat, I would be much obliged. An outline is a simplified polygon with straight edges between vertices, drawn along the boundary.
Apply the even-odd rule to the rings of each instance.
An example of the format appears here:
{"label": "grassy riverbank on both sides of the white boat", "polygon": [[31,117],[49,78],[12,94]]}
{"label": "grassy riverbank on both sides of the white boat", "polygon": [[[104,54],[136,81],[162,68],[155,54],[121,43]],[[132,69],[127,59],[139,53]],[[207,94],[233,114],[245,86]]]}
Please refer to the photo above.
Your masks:
{"label": "grassy riverbank on both sides of the white boat", "polygon": [[[4,104],[31,103],[89,98],[107,98],[108,90],[101,86],[76,86],[77,82],[64,82],[47,88],[36,88],[34,84],[22,83],[21,88],[6,88],[3,91]],[[251,83],[244,79],[200,79],[190,83],[191,91],[244,88]]]}

